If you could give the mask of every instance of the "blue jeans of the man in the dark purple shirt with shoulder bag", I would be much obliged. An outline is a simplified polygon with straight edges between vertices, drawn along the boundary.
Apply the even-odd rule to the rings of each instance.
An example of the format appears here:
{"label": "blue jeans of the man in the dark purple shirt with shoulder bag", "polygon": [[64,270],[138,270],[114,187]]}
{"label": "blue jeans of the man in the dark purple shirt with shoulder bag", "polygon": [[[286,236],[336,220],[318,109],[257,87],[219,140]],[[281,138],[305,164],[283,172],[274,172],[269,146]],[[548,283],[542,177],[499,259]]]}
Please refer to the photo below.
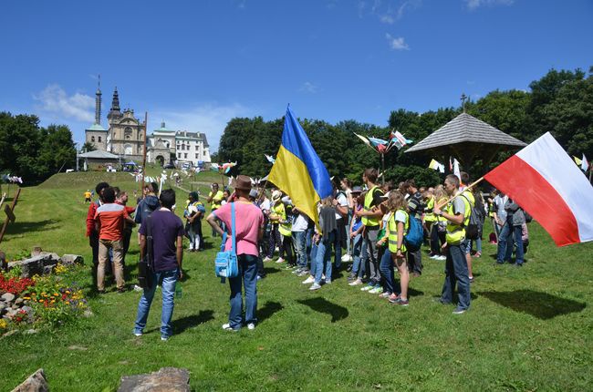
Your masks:
{"label": "blue jeans of the man in the dark purple shirt with shoulder bag", "polygon": [[161,336],[169,337],[173,334],[171,326],[171,319],[173,316],[173,297],[175,295],[175,284],[179,277],[179,270],[177,268],[169,271],[161,271],[152,274],[152,286],[144,289],[140,302],[138,303],[138,315],[136,315],[136,323],[134,324],[134,333],[141,334],[146,326],[149,312],[151,310],[152,299],[154,298],[154,291],[157,284],[161,282],[162,292],[162,311],[161,311]]}

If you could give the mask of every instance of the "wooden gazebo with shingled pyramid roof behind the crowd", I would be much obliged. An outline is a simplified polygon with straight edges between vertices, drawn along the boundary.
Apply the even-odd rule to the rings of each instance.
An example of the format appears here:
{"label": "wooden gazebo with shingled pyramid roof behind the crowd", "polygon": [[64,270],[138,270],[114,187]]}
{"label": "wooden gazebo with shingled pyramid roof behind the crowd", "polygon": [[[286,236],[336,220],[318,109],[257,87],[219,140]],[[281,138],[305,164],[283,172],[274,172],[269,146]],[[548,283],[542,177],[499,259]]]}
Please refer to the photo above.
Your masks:
{"label": "wooden gazebo with shingled pyramid roof behind the crowd", "polygon": [[459,158],[465,168],[469,168],[473,160],[481,159],[485,169],[498,152],[518,150],[525,146],[523,141],[462,113],[406,152],[421,152],[433,157],[440,156],[445,160],[453,156]]}

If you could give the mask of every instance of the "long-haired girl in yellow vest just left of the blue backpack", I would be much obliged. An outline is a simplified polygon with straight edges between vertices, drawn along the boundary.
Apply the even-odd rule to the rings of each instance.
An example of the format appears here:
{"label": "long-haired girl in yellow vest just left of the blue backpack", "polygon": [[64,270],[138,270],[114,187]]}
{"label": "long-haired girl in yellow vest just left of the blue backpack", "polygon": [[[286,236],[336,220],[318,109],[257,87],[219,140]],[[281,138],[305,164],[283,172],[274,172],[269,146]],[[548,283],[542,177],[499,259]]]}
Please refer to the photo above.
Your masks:
{"label": "long-haired girl in yellow vest just left of the blue backpack", "polygon": [[388,299],[391,304],[408,306],[408,284],[410,284],[410,271],[406,257],[406,245],[403,242],[403,236],[410,228],[410,214],[407,211],[408,201],[400,191],[390,191],[390,199],[387,207],[391,211],[388,224],[389,250],[391,260],[398,268],[400,273],[401,293],[395,292]]}

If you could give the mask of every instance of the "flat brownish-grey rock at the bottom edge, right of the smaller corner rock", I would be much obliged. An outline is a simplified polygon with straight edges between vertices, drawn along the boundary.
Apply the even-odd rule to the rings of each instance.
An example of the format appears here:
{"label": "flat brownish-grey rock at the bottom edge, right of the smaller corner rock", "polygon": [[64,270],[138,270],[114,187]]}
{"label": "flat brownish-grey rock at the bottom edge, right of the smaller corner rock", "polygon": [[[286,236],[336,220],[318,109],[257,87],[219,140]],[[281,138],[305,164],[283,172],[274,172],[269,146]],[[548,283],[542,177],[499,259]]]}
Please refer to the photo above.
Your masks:
{"label": "flat brownish-grey rock at the bottom edge, right of the smaller corner rock", "polygon": [[118,392],[189,392],[190,372],[176,367],[161,367],[148,375],[121,377]]}

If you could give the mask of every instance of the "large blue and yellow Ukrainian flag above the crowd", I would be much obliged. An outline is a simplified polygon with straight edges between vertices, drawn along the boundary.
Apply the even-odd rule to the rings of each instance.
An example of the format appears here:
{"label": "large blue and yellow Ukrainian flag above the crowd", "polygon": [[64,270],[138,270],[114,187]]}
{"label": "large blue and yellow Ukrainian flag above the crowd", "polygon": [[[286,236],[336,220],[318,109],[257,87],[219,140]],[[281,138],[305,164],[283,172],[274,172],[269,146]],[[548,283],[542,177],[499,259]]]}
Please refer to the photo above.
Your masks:
{"label": "large blue and yellow Ukrainian flag above the crowd", "polygon": [[331,181],[290,106],[286,108],[282,144],[268,180],[290,196],[299,211],[318,224],[317,201],[331,195]]}

